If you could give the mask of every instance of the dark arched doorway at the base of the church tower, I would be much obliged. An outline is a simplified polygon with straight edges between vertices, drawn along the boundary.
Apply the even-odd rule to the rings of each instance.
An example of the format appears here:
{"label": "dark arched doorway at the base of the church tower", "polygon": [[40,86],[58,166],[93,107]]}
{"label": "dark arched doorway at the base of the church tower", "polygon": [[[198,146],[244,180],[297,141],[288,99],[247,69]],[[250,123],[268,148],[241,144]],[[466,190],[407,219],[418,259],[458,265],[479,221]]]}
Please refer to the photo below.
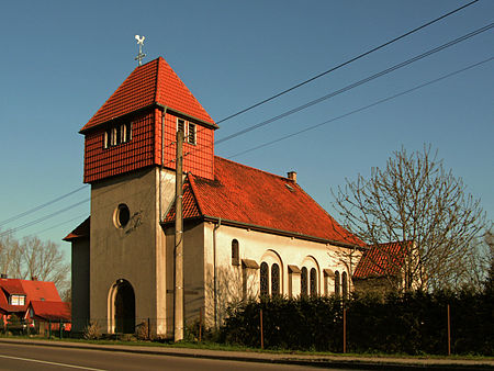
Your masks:
{"label": "dark arched doorway at the base of the church tower", "polygon": [[116,282],[114,295],[115,333],[134,334],[135,331],[135,295],[134,289],[126,280]]}

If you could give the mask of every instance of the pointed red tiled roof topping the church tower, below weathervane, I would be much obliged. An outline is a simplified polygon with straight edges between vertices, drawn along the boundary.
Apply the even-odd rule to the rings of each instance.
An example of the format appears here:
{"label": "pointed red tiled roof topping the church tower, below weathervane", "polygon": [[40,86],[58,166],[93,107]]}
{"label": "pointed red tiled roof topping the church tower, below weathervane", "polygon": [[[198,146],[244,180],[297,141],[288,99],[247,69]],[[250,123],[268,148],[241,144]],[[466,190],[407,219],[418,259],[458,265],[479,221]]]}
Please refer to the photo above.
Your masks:
{"label": "pointed red tiled roof topping the church tower, below weathervane", "polygon": [[167,61],[159,57],[138,66],[80,130],[87,132],[124,114],[160,104],[202,122],[214,124],[199,101]]}

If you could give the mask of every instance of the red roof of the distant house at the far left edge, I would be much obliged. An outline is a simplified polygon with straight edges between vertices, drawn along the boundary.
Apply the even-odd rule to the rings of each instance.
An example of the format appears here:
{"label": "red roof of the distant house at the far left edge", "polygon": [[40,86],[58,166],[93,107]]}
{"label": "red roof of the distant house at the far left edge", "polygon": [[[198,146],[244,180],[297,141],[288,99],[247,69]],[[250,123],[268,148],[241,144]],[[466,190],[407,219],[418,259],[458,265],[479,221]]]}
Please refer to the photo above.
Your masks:
{"label": "red roof of the distant house at the far left edge", "polygon": [[[3,313],[25,312],[31,301],[60,302],[60,295],[53,282],[20,279],[0,279],[0,311]],[[10,295],[25,295],[24,305],[10,305]]]}

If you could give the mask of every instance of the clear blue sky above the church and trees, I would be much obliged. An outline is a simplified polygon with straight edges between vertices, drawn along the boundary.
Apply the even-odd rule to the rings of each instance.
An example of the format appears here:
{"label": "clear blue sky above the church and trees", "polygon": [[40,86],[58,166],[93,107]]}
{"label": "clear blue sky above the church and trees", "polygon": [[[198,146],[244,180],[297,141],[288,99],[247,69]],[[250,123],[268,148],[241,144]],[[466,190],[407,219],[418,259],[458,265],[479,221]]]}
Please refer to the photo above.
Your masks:
{"label": "clear blue sky above the church and trees", "polygon": [[[2,1],[0,3],[0,222],[82,186],[78,131],[145,61],[171,65],[218,121],[467,1]],[[482,0],[345,68],[221,124],[216,139],[319,98],[493,22]],[[494,55],[491,29],[217,145],[229,157],[400,93]],[[384,167],[402,145],[431,144],[494,218],[494,61],[234,160],[299,183],[332,213],[330,188]],[[0,226],[15,228],[78,203],[85,190]],[[16,232],[60,239],[89,203]],[[65,224],[63,224],[65,223]],[[58,226],[56,226],[58,225]],[[54,227],[56,226],[56,227]],[[47,231],[46,231],[47,229]],[[69,245],[63,246],[69,251]],[[68,254],[67,254],[68,255]]]}

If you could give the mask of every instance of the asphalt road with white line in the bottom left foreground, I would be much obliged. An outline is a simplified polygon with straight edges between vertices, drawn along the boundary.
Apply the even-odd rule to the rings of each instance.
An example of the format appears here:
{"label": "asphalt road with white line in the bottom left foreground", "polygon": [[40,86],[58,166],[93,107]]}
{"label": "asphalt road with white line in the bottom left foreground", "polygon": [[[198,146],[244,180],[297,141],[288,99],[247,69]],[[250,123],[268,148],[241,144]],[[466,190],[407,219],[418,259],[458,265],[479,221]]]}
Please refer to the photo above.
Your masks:
{"label": "asphalt road with white line in the bottom left foreground", "polygon": [[0,370],[316,370],[314,368],[0,344]]}

